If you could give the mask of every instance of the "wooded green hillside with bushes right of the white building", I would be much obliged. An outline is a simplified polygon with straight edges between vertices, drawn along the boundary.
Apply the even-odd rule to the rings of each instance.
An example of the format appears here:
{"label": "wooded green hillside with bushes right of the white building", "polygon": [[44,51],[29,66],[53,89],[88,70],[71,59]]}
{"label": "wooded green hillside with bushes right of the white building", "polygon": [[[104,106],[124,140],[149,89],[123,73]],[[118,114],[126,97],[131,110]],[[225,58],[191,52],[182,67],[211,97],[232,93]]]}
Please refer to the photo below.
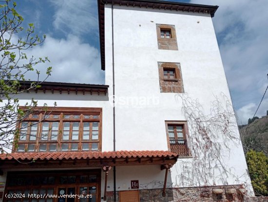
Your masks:
{"label": "wooded green hillside with bushes right of the white building", "polygon": [[254,192],[268,196],[268,111],[267,116],[249,119],[239,132]]}

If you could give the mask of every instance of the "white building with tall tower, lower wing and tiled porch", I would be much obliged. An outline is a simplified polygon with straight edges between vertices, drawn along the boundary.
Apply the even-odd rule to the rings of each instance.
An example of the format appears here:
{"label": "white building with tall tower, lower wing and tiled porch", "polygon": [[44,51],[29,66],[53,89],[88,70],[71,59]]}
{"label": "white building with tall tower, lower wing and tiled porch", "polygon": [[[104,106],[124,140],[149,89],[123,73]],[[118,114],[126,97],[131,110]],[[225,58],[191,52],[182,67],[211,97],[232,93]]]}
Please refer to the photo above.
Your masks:
{"label": "white building with tall tower, lower wing and tiled porch", "polygon": [[57,107],[46,120],[40,107],[21,123],[40,121],[22,129],[15,152],[0,157],[3,194],[93,195],[23,202],[252,195],[211,20],[217,8],[98,0],[105,85],[45,82],[19,96],[21,106],[33,97]]}

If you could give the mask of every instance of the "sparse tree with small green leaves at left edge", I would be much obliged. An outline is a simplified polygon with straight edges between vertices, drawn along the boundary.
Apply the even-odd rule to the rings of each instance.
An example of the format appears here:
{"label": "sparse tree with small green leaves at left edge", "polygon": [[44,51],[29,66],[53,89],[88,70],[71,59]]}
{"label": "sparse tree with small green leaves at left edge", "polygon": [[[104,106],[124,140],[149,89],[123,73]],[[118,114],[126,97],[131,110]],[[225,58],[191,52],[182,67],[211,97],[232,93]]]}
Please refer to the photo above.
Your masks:
{"label": "sparse tree with small green leaves at left edge", "polygon": [[[35,34],[34,24],[29,23],[24,29],[21,24],[22,16],[16,11],[16,2],[5,0],[0,2],[0,151],[3,153],[12,148],[13,139],[19,137],[19,123],[23,121],[37,106],[32,99],[26,103],[27,110],[19,109],[19,100],[16,95],[35,88],[51,74],[52,67],[46,69],[46,78],[39,80],[38,64],[45,63],[45,58],[28,58],[25,50],[41,44],[45,35],[39,38]],[[27,73],[36,72],[36,79],[29,87],[23,86]],[[16,142],[15,142],[16,144]]]}

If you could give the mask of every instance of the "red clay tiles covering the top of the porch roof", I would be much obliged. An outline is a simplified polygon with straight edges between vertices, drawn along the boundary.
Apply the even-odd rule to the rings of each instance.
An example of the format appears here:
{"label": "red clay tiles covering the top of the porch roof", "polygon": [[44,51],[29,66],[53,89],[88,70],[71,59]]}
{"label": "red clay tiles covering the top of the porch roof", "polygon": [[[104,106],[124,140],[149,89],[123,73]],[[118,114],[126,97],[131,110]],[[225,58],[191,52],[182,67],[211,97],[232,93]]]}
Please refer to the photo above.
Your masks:
{"label": "red clay tiles covering the top of the porch roof", "polygon": [[170,151],[32,152],[1,154],[0,160],[79,160],[109,158],[178,157]]}

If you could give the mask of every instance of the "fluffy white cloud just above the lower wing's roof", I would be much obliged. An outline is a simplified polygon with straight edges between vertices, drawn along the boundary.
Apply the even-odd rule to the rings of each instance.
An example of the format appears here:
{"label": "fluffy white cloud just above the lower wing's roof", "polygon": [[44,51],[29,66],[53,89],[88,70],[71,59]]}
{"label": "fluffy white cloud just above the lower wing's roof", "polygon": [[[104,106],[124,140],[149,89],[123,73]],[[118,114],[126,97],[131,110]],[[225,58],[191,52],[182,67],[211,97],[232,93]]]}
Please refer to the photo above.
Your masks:
{"label": "fluffy white cloud just above the lower wing's roof", "polygon": [[[52,76],[47,81],[77,82],[101,84],[104,72],[100,70],[100,56],[96,48],[69,35],[67,39],[54,39],[47,37],[42,45],[26,51],[27,56],[47,56],[50,63],[40,64],[38,69],[44,70],[53,67]],[[35,79],[33,74],[30,75]]]}

